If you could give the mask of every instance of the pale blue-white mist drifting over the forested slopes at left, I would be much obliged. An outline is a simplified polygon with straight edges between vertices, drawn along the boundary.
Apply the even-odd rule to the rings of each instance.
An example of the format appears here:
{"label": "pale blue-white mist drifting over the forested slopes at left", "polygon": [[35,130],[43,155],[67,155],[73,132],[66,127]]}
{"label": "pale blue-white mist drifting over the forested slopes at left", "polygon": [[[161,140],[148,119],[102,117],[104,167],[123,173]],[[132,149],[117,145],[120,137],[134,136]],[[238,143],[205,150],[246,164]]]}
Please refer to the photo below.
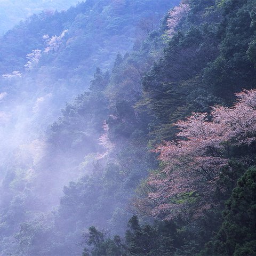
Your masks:
{"label": "pale blue-white mist drifting over the forested slopes at left", "polygon": [[[127,95],[123,93],[129,94],[123,91],[124,87],[111,92],[116,78],[110,78],[110,73],[119,68],[134,43],[161,26],[163,15],[178,2],[87,0],[68,11],[31,15],[3,35],[1,255],[77,254],[82,250],[77,243],[85,225],[106,228],[115,222],[118,204],[126,211],[127,196],[123,202],[112,199],[108,212],[90,215],[97,212],[96,205],[94,213],[82,218],[81,227],[79,222],[75,227],[68,210],[63,210],[67,207],[67,198],[62,198],[63,186],[70,181],[85,186],[92,179],[85,176],[88,174],[99,178],[97,172],[106,162],[104,155],[112,147],[106,135],[105,120],[113,114],[109,106],[118,97],[125,103]],[[150,65],[160,51],[155,51]],[[140,79],[147,68],[149,64],[143,68],[131,65],[124,74],[133,81],[138,95]],[[122,102],[117,112],[123,111]],[[118,140],[122,144],[122,136]],[[64,188],[67,195],[72,184]],[[91,198],[84,200],[88,207],[103,199],[97,198],[104,194],[101,191],[97,195],[98,189],[104,188],[99,184],[99,188],[91,190]],[[131,214],[124,213],[124,226]],[[120,223],[114,230],[122,233],[121,227]],[[38,238],[31,234],[38,234]],[[44,243],[41,245],[37,239]]]}

